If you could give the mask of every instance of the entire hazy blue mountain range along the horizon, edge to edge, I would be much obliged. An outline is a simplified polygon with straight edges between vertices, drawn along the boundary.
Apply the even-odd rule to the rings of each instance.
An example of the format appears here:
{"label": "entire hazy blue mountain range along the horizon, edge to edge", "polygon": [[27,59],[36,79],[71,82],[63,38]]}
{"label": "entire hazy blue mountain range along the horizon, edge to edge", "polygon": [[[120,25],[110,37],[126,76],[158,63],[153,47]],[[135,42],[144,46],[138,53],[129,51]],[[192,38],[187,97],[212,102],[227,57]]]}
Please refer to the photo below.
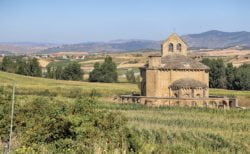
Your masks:
{"label": "entire hazy blue mountain range along the horizon, edge to edge", "polygon": [[[199,34],[188,34],[182,36],[190,49],[223,49],[237,47],[241,49],[250,48],[250,32],[222,32],[211,30]],[[139,50],[160,50],[162,41],[153,40],[113,40],[109,42],[86,42],[78,44],[37,44],[37,43],[0,43],[0,51],[16,53],[54,53],[67,51],[87,52],[128,52]]]}

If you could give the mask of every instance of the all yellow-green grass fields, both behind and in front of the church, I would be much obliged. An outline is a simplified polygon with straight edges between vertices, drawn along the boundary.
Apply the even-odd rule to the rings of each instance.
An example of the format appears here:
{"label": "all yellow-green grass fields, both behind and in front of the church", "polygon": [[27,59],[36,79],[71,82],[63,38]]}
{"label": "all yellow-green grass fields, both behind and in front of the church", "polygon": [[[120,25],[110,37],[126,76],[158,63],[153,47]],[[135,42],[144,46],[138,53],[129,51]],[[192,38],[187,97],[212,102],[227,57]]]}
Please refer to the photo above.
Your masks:
{"label": "all yellow-green grass fields, both behind and in front of the church", "polygon": [[[20,104],[37,97],[70,103],[95,89],[100,110],[121,113],[128,128],[138,131],[133,141],[142,153],[250,153],[249,109],[156,108],[112,101],[116,95],[139,92],[136,84],[128,83],[59,81],[5,72],[0,72],[0,82],[9,88],[16,83]],[[210,94],[250,98],[250,91],[211,89]]]}

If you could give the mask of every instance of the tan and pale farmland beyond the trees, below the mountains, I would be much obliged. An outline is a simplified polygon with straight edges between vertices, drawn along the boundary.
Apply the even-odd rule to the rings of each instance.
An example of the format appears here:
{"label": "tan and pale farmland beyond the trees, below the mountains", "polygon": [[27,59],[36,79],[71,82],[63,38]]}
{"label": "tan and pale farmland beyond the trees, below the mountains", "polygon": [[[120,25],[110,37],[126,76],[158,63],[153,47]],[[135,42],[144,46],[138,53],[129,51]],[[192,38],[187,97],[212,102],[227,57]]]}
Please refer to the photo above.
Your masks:
{"label": "tan and pale farmland beyond the trees, below the mountains", "polygon": [[[85,53],[85,52],[83,52]],[[93,70],[93,66],[96,62],[103,63],[104,58],[109,55],[112,57],[113,61],[117,65],[117,71],[119,75],[119,81],[125,82],[125,73],[128,69],[133,70],[136,75],[139,75],[139,67],[142,67],[147,62],[147,57],[152,54],[159,54],[160,52],[127,52],[127,53],[89,53],[84,59],[64,59],[62,53],[58,53],[61,57],[53,58],[39,58],[40,66],[46,69],[47,65],[50,66],[66,66],[72,61],[76,61],[81,65],[81,69],[84,71],[84,80],[89,77],[89,72]],[[236,50],[236,49],[224,49],[224,50],[214,50],[206,52],[190,52],[190,56],[195,58],[210,58],[210,59],[223,59],[225,64],[232,63],[233,66],[239,67],[242,64],[249,63],[249,50]],[[66,55],[66,54],[65,54]],[[74,54],[73,54],[74,55]],[[74,56],[77,56],[74,55]],[[201,60],[201,59],[197,59]]]}

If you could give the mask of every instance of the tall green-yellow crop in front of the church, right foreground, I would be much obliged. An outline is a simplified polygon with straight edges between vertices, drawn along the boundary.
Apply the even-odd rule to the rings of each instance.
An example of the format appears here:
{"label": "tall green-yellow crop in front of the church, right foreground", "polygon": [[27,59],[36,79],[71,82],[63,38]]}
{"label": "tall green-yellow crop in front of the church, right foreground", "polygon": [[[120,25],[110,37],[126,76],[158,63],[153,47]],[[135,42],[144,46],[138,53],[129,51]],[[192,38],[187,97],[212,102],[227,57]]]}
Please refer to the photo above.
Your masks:
{"label": "tall green-yellow crop in front of the church, right foreground", "polygon": [[137,132],[142,152],[249,153],[250,110],[160,107],[100,103],[102,109],[119,111],[128,127]]}

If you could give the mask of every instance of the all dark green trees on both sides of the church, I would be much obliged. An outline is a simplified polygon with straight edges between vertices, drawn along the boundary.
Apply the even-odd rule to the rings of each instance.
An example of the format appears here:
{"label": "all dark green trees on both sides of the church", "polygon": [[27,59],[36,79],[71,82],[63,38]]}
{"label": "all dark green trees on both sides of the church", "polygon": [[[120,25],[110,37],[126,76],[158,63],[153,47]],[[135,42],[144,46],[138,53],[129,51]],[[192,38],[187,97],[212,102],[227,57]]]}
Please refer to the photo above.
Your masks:
{"label": "all dark green trees on both sides of the church", "polygon": [[[250,89],[250,65],[244,64],[238,68],[231,63],[225,65],[222,59],[203,59],[202,63],[210,67],[209,85],[211,88],[225,88],[234,90]],[[0,65],[2,71],[28,76],[42,76],[42,69],[36,58],[4,57]],[[47,67],[44,75],[47,78],[59,80],[82,80],[83,71],[77,62],[67,66]],[[126,78],[130,83],[139,82],[133,70],[126,72]],[[118,73],[116,64],[107,56],[104,63],[95,63],[94,70],[89,74],[90,82],[117,82]]]}

